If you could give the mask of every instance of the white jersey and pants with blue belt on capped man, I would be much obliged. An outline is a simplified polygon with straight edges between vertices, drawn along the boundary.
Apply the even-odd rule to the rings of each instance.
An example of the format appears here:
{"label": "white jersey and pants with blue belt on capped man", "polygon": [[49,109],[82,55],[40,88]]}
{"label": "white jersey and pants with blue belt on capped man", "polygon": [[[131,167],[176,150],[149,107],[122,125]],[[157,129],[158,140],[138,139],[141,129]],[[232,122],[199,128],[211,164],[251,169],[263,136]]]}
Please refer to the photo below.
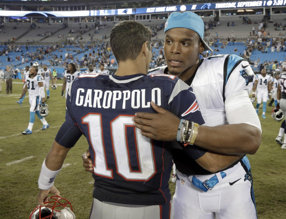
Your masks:
{"label": "white jersey and pants with blue belt on capped man", "polygon": [[[167,72],[165,66],[149,74]],[[217,55],[200,60],[194,75],[185,82],[193,88],[206,126],[247,123],[261,130],[248,96],[253,80],[247,60]],[[178,175],[172,200],[174,219],[257,218],[246,156],[217,173],[203,169],[182,150],[174,150],[173,156]],[[204,186],[205,181],[212,183],[212,190]]]}

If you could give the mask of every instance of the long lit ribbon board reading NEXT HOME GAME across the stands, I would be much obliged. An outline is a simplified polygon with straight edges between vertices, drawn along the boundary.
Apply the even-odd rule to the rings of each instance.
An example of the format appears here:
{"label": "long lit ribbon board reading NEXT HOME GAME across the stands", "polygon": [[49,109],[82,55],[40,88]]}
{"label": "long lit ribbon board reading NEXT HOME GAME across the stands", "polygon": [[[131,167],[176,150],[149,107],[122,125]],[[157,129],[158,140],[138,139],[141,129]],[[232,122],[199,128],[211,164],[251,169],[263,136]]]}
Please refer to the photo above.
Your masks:
{"label": "long lit ribbon board reading NEXT HOME GAME across the stands", "polygon": [[174,11],[192,11],[192,10],[214,10],[214,9],[234,9],[248,7],[273,7],[285,6],[286,0],[268,0],[268,1],[233,1],[205,4],[187,4],[187,5],[171,5],[161,7],[145,7],[145,8],[123,8],[109,10],[80,10],[80,11],[10,11],[0,10],[0,16],[29,16],[33,13],[45,17],[86,17],[86,16],[107,16],[107,15],[129,15],[129,14],[146,14],[161,13]]}

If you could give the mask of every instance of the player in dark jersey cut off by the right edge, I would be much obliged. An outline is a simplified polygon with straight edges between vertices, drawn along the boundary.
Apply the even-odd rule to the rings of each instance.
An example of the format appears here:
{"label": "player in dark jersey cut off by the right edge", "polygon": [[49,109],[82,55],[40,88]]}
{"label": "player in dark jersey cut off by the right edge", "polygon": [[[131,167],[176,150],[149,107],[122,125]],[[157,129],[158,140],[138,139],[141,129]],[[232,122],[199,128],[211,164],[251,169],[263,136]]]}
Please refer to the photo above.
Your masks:
{"label": "player in dark jersey cut off by the right edge", "polygon": [[[285,87],[285,80],[286,80],[286,73],[281,73],[279,76],[279,84],[278,84],[278,89],[277,89],[277,105],[276,107],[280,107],[282,110],[284,116],[286,115],[286,87]],[[282,135],[283,135],[283,129],[284,129],[284,142],[281,146],[282,149],[286,149],[286,123],[285,120],[282,122],[279,134],[276,137],[276,142],[278,144],[282,144]]]}

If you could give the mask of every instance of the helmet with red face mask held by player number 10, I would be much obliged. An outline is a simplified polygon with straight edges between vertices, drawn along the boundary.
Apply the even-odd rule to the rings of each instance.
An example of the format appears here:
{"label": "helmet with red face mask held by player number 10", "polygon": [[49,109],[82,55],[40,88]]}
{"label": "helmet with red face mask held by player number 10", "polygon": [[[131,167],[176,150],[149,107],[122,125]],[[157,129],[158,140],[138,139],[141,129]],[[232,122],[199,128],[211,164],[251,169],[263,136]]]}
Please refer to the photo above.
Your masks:
{"label": "helmet with red face mask held by player number 10", "polygon": [[29,219],[75,219],[71,203],[58,195],[50,197],[44,202],[48,207],[38,205],[31,212]]}

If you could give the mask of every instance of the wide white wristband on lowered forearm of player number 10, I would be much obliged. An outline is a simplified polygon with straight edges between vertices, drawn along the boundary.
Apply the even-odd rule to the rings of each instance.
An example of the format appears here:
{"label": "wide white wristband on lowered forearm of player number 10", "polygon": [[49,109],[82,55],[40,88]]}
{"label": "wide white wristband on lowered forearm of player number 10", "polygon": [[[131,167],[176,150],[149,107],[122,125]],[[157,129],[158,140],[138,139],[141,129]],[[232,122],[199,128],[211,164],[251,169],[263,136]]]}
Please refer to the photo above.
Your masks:
{"label": "wide white wristband on lowered forearm of player number 10", "polygon": [[46,167],[45,160],[46,159],[44,159],[44,162],[42,164],[42,169],[41,169],[40,176],[38,179],[39,189],[43,189],[43,190],[50,189],[54,185],[55,178],[57,174],[60,172],[60,170],[62,169],[60,168],[57,171],[49,170]]}

